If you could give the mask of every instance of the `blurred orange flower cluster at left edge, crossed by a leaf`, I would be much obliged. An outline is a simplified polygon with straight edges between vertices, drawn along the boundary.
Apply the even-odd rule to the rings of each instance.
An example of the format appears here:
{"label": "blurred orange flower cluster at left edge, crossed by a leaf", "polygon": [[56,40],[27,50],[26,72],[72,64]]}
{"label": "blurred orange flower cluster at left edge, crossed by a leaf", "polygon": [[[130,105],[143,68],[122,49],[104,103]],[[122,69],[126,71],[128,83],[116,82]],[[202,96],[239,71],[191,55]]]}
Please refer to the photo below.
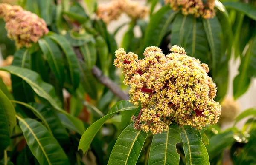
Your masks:
{"label": "blurred orange flower cluster at left edge, crossed by a leaf", "polygon": [[[1,63],[1,66],[8,66],[12,64],[13,56],[8,56],[6,60]],[[10,87],[12,85],[11,75],[6,71],[0,71],[0,78],[2,78],[3,83]]]}

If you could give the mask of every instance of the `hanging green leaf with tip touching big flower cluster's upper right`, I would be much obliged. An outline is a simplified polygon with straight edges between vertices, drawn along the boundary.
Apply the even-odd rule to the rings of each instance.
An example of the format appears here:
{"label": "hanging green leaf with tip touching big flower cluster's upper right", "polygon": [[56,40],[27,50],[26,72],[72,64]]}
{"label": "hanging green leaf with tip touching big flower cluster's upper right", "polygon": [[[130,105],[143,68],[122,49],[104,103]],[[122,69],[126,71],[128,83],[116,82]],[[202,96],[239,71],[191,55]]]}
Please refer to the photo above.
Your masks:
{"label": "hanging green leaf with tip touching big flower cluster's upper right", "polygon": [[223,37],[221,26],[217,17],[203,19],[203,25],[211,51],[210,68],[212,69],[212,75],[215,76],[219,67],[219,62],[225,59],[223,59],[224,53],[222,52],[221,45],[221,38]]}

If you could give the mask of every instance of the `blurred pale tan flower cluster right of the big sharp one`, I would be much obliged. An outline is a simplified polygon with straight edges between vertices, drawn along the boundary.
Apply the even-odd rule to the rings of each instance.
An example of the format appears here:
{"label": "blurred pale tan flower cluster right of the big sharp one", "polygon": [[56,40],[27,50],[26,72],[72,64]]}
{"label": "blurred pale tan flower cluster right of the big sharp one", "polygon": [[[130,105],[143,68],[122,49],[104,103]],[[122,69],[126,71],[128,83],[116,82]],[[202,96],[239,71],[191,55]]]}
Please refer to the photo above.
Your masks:
{"label": "blurred pale tan flower cluster right of the big sharp one", "polygon": [[240,106],[239,104],[232,98],[227,97],[221,103],[221,115],[219,119],[219,123],[228,123],[233,122],[236,116],[239,114]]}

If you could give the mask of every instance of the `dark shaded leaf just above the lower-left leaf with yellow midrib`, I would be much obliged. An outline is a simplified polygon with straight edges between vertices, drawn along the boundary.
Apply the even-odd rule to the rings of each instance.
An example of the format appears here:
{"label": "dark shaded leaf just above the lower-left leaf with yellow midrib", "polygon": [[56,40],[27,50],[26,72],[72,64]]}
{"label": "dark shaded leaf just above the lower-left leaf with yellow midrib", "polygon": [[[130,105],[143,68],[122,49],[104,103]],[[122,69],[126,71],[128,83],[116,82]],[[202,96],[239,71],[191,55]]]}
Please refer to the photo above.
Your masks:
{"label": "dark shaded leaf just above the lower-left leaf with yellow midrib", "polygon": [[69,144],[69,137],[66,129],[61,124],[61,120],[57,114],[50,108],[45,107],[43,104],[32,103],[33,108],[36,109],[47,121],[52,131],[53,136],[58,140],[61,145]]}

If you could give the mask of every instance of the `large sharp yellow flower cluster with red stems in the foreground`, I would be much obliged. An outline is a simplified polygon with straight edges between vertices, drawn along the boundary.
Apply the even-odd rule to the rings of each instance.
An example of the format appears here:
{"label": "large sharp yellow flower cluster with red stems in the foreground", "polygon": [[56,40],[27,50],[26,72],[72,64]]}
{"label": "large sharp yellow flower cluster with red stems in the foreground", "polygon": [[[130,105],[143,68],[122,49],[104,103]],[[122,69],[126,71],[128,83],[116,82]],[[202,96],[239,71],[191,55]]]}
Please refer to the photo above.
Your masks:
{"label": "large sharp yellow flower cluster with red stems in the foreground", "polygon": [[179,46],[170,51],[165,56],[160,48],[148,47],[144,59],[122,48],[116,51],[114,65],[123,68],[129,101],[142,107],[138,117],[132,117],[134,128],[157,134],[172,122],[197,129],[215,125],[221,105],[213,100],[216,86],[207,75],[208,66],[187,56]]}

